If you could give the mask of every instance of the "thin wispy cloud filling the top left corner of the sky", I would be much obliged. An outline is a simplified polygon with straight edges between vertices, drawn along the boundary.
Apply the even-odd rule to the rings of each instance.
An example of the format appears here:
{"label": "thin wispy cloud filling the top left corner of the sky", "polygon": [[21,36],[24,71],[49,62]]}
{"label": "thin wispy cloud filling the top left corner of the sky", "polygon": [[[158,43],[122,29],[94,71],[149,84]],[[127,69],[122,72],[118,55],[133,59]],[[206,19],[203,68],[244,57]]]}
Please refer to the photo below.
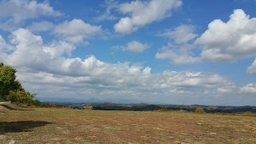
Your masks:
{"label": "thin wispy cloud filling the top left corner of the sky", "polygon": [[62,14],[48,2],[37,2],[30,0],[10,0],[0,2],[0,18],[2,30],[13,30],[20,22],[30,19],[39,18],[40,16],[58,17]]}

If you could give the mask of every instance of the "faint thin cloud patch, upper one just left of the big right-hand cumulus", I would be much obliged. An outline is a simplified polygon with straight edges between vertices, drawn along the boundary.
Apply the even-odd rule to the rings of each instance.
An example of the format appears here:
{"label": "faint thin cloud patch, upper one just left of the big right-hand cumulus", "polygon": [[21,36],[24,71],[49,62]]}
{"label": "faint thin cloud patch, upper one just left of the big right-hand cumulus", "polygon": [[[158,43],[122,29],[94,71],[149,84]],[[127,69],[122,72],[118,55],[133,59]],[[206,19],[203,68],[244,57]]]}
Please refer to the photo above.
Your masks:
{"label": "faint thin cloud patch, upper one just left of the big right-hand cumulus", "polygon": [[164,36],[166,38],[174,39],[174,42],[176,43],[185,43],[198,37],[198,34],[195,34],[194,30],[194,26],[181,25],[174,28],[174,30],[166,30],[165,32],[159,35]]}

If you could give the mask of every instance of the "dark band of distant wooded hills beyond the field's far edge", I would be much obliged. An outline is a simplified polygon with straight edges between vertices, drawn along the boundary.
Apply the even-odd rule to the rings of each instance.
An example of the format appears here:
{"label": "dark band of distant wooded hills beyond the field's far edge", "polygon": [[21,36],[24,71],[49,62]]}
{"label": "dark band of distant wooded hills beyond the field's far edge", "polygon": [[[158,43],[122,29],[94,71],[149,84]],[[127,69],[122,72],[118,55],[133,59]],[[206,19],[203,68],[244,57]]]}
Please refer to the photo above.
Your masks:
{"label": "dark band of distant wooded hills beyond the field's far edge", "polygon": [[[58,103],[73,109],[85,109],[84,103]],[[94,110],[130,110],[130,111],[187,111],[194,112],[201,107],[206,113],[211,114],[243,114],[251,112],[256,114],[256,106],[199,106],[199,105],[152,105],[152,104],[117,104],[117,103],[92,103]]]}

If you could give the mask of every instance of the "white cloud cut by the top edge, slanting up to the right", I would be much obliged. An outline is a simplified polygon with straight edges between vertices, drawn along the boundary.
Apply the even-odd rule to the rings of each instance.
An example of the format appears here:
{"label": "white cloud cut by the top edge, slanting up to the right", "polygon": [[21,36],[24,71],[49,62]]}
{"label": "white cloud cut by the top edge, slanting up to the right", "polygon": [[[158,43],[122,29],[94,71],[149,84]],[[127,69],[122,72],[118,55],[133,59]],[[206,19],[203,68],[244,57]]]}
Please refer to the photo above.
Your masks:
{"label": "white cloud cut by the top edge, slanting up to the right", "polygon": [[181,0],[151,0],[150,2],[136,0],[122,3],[119,10],[123,14],[131,14],[131,16],[121,18],[114,25],[114,30],[121,34],[130,34],[151,22],[170,17],[171,10],[179,6],[182,6]]}

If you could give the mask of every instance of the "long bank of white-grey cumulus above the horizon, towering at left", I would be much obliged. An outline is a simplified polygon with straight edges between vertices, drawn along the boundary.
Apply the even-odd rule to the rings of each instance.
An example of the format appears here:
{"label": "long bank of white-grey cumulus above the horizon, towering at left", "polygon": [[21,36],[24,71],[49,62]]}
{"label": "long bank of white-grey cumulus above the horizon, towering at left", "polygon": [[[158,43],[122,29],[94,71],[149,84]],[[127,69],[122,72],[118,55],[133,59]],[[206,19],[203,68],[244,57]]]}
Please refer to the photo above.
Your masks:
{"label": "long bank of white-grey cumulus above the horizon, towering at left", "polygon": [[18,79],[27,90],[38,94],[80,98],[85,94],[149,96],[178,94],[178,91],[202,94],[202,90],[217,91],[218,87],[234,85],[218,74],[170,70],[151,74],[150,67],[129,62],[102,62],[94,56],[84,60],[66,58],[65,54],[72,56],[74,45],[68,42],[46,45],[41,36],[25,29],[13,31],[10,41],[14,50],[4,52],[6,57],[0,57],[0,61],[18,68]]}

